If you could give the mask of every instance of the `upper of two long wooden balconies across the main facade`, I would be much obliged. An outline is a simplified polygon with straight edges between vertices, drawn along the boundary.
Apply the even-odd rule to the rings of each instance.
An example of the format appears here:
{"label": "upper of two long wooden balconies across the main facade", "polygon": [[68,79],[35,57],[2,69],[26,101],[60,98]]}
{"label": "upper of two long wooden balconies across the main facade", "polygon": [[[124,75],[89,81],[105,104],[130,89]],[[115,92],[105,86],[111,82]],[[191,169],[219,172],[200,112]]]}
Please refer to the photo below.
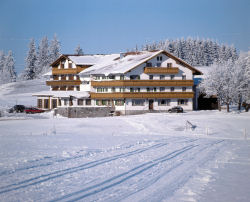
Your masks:
{"label": "upper of two long wooden balconies across the main facade", "polygon": [[113,80],[91,81],[93,87],[109,86],[193,86],[193,80]]}

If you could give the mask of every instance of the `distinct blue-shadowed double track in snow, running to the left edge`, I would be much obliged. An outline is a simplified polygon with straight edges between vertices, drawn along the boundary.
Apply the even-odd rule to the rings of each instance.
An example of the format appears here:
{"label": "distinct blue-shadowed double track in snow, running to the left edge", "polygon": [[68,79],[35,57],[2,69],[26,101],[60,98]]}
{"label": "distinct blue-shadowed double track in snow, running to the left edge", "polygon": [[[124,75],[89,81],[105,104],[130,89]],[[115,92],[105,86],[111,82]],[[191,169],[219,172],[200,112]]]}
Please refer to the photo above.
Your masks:
{"label": "distinct blue-shadowed double track in snow, running to the left edge", "polygon": [[[192,140],[192,141],[194,141],[194,140]],[[0,187],[0,194],[10,192],[10,191],[14,191],[14,190],[18,190],[18,189],[21,189],[21,188],[25,188],[25,187],[28,187],[28,186],[31,186],[31,185],[36,185],[36,184],[39,184],[39,183],[42,183],[42,182],[45,182],[45,181],[48,181],[48,180],[52,180],[54,178],[61,177],[61,176],[67,175],[67,174],[72,174],[72,173],[82,171],[82,170],[85,170],[85,169],[88,169],[88,168],[93,168],[95,166],[98,166],[98,165],[101,165],[101,164],[104,164],[104,163],[108,163],[108,162],[111,162],[111,161],[114,161],[114,160],[117,160],[117,159],[120,159],[120,158],[129,157],[129,156],[132,156],[132,155],[135,155],[135,154],[140,154],[142,152],[145,152],[145,151],[148,151],[148,150],[151,150],[151,149],[157,149],[157,148],[166,146],[168,144],[169,143],[158,143],[158,144],[155,144],[153,146],[149,146],[149,147],[142,148],[142,149],[136,149],[134,151],[114,155],[114,156],[111,156],[111,157],[106,157],[106,158],[103,158],[103,159],[100,159],[100,160],[97,160],[97,161],[92,161],[92,162],[89,162],[89,163],[85,163],[85,164],[80,165],[80,166],[71,167],[71,168],[51,172],[51,173],[48,173],[48,174],[40,175],[40,176],[37,176],[37,177],[33,177],[33,178],[23,180],[23,181],[18,182],[18,183],[14,183],[14,184],[10,184],[10,185],[7,185],[7,186]]]}

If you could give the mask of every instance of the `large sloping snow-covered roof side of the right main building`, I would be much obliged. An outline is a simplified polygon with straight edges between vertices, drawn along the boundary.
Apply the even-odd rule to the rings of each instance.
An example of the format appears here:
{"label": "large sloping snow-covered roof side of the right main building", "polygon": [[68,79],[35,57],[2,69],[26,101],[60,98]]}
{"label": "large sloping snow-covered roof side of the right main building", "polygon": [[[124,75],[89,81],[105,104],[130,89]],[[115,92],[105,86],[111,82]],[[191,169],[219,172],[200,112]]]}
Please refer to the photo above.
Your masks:
{"label": "large sloping snow-covered roof side of the right main building", "polygon": [[118,58],[116,60],[102,60],[98,64],[93,65],[80,73],[80,75],[86,74],[124,74],[125,72],[137,67],[138,65],[146,62],[150,58],[161,53],[161,51],[156,52],[138,52],[137,54],[128,54],[125,57]]}

